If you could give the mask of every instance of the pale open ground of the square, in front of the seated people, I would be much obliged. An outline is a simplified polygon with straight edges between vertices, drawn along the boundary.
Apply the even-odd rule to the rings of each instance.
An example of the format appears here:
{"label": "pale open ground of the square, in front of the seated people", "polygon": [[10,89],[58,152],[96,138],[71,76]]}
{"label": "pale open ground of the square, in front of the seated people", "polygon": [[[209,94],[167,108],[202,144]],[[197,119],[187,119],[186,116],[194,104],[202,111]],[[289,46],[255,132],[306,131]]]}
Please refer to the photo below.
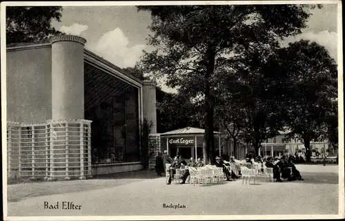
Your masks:
{"label": "pale open ground of the square, in front of the seated people", "polygon": [[[337,214],[338,167],[298,165],[304,181],[242,185],[171,184],[151,171],[92,180],[8,185],[8,216]],[[60,209],[44,209],[44,202]],[[81,205],[61,209],[62,202]],[[186,208],[163,208],[180,204]]]}

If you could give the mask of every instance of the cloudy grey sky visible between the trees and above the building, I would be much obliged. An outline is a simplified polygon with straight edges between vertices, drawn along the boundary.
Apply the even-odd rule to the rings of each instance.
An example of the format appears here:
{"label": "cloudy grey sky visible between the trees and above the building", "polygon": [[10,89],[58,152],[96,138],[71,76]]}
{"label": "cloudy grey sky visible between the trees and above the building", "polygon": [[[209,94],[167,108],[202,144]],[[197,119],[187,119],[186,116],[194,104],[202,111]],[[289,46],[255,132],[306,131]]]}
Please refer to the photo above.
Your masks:
{"label": "cloudy grey sky visible between the trees and above the building", "polygon": [[[337,5],[324,4],[322,9],[314,9],[312,13],[308,28],[300,35],[284,39],[282,45],[299,39],[316,41],[337,60]],[[63,7],[62,14],[61,22],[53,21],[52,26],[84,37],[86,49],[121,68],[135,66],[142,50],[150,50],[146,45],[150,14],[138,12],[135,6],[72,6]],[[161,88],[175,91],[164,85]]]}

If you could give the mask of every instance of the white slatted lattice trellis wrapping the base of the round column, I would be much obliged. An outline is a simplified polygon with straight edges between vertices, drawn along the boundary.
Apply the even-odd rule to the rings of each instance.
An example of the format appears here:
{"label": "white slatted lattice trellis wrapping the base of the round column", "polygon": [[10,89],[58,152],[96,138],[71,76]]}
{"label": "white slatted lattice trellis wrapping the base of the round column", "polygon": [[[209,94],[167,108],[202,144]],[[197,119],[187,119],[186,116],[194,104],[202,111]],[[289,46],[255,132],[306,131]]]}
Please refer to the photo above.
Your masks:
{"label": "white slatted lattice trellis wrapping the base of the round column", "polygon": [[91,121],[8,122],[8,178],[91,177]]}

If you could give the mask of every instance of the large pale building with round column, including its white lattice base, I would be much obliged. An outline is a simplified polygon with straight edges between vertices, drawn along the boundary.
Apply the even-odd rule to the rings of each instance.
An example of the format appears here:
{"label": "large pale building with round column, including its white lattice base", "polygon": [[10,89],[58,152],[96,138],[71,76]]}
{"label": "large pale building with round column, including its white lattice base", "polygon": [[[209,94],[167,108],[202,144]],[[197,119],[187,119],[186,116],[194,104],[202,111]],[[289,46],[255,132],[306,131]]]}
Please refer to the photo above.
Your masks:
{"label": "large pale building with round column, including its white lattice base", "polygon": [[[44,149],[39,150],[39,147],[44,146],[46,162],[40,162],[46,165],[46,172],[42,172],[44,177],[59,168],[62,168],[60,176],[72,176],[71,162],[75,162],[80,171],[87,168],[88,175],[91,167],[92,175],[142,168],[141,122],[144,118],[153,122],[152,133],[157,132],[156,86],[125,73],[86,50],[84,44],[86,39],[82,37],[60,35],[49,42],[7,46],[8,155],[17,155],[9,163],[11,170],[21,171],[23,164],[30,164],[28,170],[37,176],[34,175],[37,169],[44,166],[34,169],[37,163],[34,155],[37,151],[43,155]],[[77,135],[72,135],[71,131],[76,128],[72,124],[85,127],[79,131],[80,140],[74,143],[72,137]],[[41,126],[41,132],[37,126]],[[39,134],[43,135],[40,142],[46,145],[37,145]],[[63,137],[62,141],[59,137]],[[77,152],[71,157],[72,150],[77,148],[80,148],[78,162],[73,160],[79,157]],[[23,161],[28,155],[24,154],[26,150],[32,150],[32,164]],[[87,155],[85,159],[83,154]],[[82,164],[83,159],[87,164]]]}

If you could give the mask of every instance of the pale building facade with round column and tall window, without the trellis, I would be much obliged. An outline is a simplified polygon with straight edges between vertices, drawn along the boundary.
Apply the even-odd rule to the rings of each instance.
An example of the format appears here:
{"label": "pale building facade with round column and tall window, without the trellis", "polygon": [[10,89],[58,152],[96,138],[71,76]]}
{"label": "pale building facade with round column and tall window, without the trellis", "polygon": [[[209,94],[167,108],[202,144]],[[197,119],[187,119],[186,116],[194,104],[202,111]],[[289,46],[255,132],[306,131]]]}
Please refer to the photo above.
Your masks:
{"label": "pale building facade with round column and tall window, without the trellis", "polygon": [[61,35],[50,42],[8,45],[7,121],[88,120],[93,175],[139,170],[143,119],[157,132],[156,86],[86,50],[85,44],[82,37]]}

